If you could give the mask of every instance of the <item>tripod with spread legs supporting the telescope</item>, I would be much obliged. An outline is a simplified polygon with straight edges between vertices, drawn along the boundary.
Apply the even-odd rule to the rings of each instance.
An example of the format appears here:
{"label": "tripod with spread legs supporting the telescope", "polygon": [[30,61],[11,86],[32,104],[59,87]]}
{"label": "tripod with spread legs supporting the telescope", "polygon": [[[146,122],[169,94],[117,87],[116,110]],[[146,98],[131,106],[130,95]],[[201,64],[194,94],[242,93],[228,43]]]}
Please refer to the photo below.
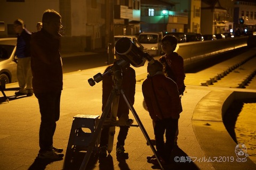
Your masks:
{"label": "tripod with spread legs supporting the telescope", "polygon": [[123,98],[125,100],[125,103],[127,104],[129,109],[131,110],[135,120],[137,121],[138,125],[140,126],[140,129],[141,129],[143,135],[145,136],[145,138],[147,140],[147,143],[149,143],[150,148],[152,149],[154,155],[156,156],[156,159],[157,159],[157,161],[159,163],[159,166],[161,167],[161,169],[164,169],[162,164],[161,164],[161,162],[160,162],[160,160],[159,160],[159,158],[158,158],[158,156],[157,156],[157,154],[156,154],[156,149],[153,146],[152,142],[150,141],[150,138],[149,138],[149,136],[147,134],[147,131],[145,130],[143,124],[141,123],[138,114],[136,113],[135,109],[130,104],[130,101],[127,99],[127,97],[124,94],[124,91],[122,89],[122,70],[121,70],[121,66],[119,66],[117,63],[114,63],[114,65],[111,66],[111,67],[112,67],[111,72],[113,73],[112,74],[113,75],[113,80],[116,80],[116,81],[114,81],[113,89],[110,92],[110,95],[108,97],[106,106],[103,109],[102,115],[100,117],[97,129],[93,133],[92,140],[89,143],[88,150],[86,152],[86,155],[85,155],[85,157],[83,159],[83,162],[82,162],[81,167],[79,168],[79,170],[85,170],[86,165],[89,162],[90,156],[91,156],[92,151],[94,149],[94,146],[95,146],[94,143],[95,143],[95,141],[97,141],[97,139],[98,139],[98,137],[100,135],[102,126],[103,126],[103,124],[105,122],[105,119],[107,118],[107,116],[109,114],[111,106],[112,106],[112,108],[114,108],[114,110],[117,110],[116,108],[118,108],[119,94],[123,96]]}

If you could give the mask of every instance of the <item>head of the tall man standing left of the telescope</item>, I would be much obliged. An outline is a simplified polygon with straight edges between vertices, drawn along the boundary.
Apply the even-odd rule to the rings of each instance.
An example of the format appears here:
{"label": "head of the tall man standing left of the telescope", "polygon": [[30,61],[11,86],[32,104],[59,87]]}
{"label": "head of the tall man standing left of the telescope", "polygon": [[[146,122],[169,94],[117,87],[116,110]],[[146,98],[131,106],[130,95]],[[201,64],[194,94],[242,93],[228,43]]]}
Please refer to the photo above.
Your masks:
{"label": "head of the tall man standing left of the telescope", "polygon": [[61,24],[61,15],[54,10],[46,10],[43,14],[43,29],[51,33],[51,35],[58,35]]}

